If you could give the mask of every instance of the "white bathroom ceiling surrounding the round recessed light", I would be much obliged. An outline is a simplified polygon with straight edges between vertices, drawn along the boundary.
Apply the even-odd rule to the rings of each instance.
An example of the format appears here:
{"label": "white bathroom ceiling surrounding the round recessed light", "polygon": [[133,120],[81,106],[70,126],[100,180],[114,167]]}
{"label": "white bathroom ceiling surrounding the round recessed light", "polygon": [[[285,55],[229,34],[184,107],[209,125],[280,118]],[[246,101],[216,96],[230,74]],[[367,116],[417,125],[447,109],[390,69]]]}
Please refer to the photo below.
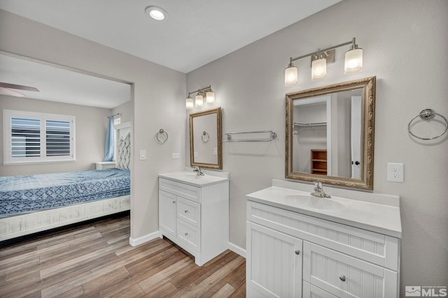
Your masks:
{"label": "white bathroom ceiling surrounding the round recessed light", "polygon": [[[188,73],[339,1],[0,0],[0,9]],[[148,17],[151,5],[167,18]]]}

